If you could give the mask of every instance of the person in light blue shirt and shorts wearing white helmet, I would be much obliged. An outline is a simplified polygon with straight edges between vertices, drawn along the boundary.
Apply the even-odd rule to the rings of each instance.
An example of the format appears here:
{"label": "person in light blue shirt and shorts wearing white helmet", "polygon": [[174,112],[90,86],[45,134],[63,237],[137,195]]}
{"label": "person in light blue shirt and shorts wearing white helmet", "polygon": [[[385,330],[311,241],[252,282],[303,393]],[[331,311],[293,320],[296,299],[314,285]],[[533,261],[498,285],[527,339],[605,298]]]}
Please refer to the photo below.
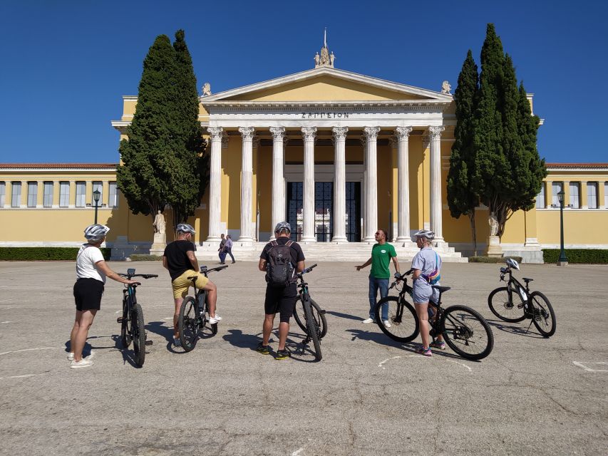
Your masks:
{"label": "person in light blue shirt and shorts wearing white helmet", "polygon": [[[432,242],[435,239],[435,233],[429,229],[421,229],[414,234],[416,237],[416,245],[420,252],[412,259],[413,292],[412,299],[414,308],[420,320],[420,334],[422,345],[416,350],[424,356],[432,356],[431,347],[445,350],[445,343],[439,334],[435,342],[429,344],[429,324],[428,318],[433,315],[433,302],[439,298],[439,292],[432,288],[432,285],[438,285],[441,269],[441,257],[437,252],[433,251]],[[431,309],[429,309],[431,302]]]}

